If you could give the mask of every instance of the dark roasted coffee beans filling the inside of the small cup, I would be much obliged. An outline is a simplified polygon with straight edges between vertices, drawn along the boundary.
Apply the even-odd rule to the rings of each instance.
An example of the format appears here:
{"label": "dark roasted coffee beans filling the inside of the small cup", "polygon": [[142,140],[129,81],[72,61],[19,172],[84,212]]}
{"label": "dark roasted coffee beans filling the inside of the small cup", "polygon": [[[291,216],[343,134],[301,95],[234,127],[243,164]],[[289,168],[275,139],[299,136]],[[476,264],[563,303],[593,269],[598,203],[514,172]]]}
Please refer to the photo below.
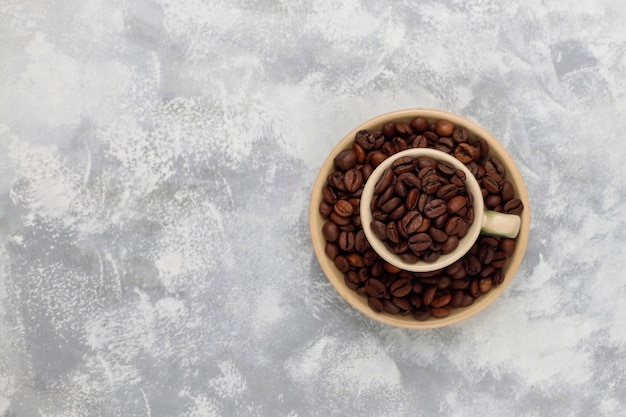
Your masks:
{"label": "dark roasted coffee beans filling the inside of the small cup", "polygon": [[465,173],[446,161],[402,156],[374,186],[372,232],[402,260],[435,262],[474,221]]}

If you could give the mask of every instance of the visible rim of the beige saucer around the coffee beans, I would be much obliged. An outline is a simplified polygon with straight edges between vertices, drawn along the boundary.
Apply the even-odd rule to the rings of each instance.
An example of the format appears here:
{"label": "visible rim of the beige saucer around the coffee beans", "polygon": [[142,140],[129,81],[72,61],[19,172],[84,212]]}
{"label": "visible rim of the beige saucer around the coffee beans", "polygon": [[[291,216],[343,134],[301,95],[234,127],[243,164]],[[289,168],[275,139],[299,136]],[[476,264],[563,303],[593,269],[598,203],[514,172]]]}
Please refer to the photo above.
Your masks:
{"label": "visible rim of the beige saucer around the coffee beans", "polygon": [[[319,206],[322,202],[322,189],[326,184],[328,175],[334,169],[333,159],[342,150],[352,147],[356,132],[363,129],[381,129],[381,127],[389,121],[408,123],[416,116],[424,116],[431,122],[438,119],[447,119],[457,126],[463,126],[468,129],[472,137],[482,137],[483,139],[485,139],[489,144],[490,154],[500,159],[500,161],[506,168],[505,178],[511,181],[511,183],[513,184],[513,188],[515,189],[516,196],[520,198],[524,204],[524,211],[520,215],[520,230],[516,240],[515,251],[511,255],[507,265],[504,268],[504,282],[499,286],[492,288],[491,291],[489,291],[487,294],[483,294],[481,297],[476,299],[476,301],[471,306],[452,309],[450,315],[445,318],[430,318],[427,321],[418,321],[411,315],[402,316],[392,315],[385,312],[376,313],[368,306],[366,297],[361,296],[348,288],[344,282],[344,274],[335,267],[334,262],[330,258],[328,258],[326,256],[326,253],[324,252],[326,241],[322,235],[322,225],[324,224],[325,219],[319,213]],[[320,263],[320,266],[322,267],[322,270],[326,274],[326,277],[328,278],[330,283],[337,290],[337,292],[351,306],[353,306],[366,316],[384,324],[410,329],[428,329],[448,326],[450,324],[458,323],[459,321],[474,316],[478,312],[484,310],[496,298],[498,298],[502,294],[502,292],[504,292],[504,290],[513,280],[515,273],[517,272],[522,262],[524,253],[526,252],[530,229],[530,203],[528,200],[528,193],[526,191],[524,180],[515,162],[508,154],[506,149],[489,132],[487,132],[485,129],[478,126],[477,124],[452,113],[432,109],[406,109],[377,116],[357,126],[337,144],[337,146],[327,157],[326,161],[323,163],[317,179],[313,185],[313,189],[311,192],[311,202],[309,207],[309,227],[311,240],[313,243],[313,249]]]}

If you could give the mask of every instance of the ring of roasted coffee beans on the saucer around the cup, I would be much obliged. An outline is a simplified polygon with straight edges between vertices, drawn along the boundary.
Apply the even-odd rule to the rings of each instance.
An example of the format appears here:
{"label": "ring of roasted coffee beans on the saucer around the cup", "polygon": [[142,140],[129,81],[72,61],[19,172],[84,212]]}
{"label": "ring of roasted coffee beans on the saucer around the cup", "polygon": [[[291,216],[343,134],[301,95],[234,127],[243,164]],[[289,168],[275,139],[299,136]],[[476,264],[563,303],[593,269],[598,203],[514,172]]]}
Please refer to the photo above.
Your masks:
{"label": "ring of roasted coffee beans on the saucer around the cup", "polygon": [[[359,131],[352,146],[335,157],[319,207],[326,219],[322,226],[325,252],[344,274],[346,285],[367,297],[374,311],[411,315],[416,320],[442,318],[453,308],[471,305],[504,281],[503,268],[515,250],[515,240],[481,236],[463,258],[428,273],[401,270],[380,258],[361,226],[361,193],[382,161],[409,148],[437,149],[465,164],[480,184],[486,209],[510,214],[523,211],[522,201],[505,179],[502,162],[489,155],[483,138],[443,119],[392,121],[377,130]],[[443,227],[445,231],[445,222]]]}

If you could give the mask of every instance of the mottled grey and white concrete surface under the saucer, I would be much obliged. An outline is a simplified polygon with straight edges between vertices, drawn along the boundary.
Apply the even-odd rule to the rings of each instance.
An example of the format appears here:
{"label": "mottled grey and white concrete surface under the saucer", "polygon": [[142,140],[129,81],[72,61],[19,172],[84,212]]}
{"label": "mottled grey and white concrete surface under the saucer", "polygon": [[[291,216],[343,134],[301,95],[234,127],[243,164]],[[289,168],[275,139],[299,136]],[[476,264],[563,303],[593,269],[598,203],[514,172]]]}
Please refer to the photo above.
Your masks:
{"label": "mottled grey and white concrete surface under the saucer", "polygon": [[[0,1],[0,416],[626,415],[626,5]],[[387,328],[309,241],[357,124],[460,113],[516,159],[522,267]]]}

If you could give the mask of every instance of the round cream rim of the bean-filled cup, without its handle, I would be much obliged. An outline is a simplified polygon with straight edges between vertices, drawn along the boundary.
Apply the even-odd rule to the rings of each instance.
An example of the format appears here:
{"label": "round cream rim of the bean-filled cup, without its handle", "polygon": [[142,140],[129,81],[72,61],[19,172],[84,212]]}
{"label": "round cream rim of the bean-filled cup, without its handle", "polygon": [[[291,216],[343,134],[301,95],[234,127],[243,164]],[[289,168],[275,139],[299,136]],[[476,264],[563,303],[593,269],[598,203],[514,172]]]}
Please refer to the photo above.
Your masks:
{"label": "round cream rim of the bean-filled cup, without its handle", "polygon": [[[446,161],[454,165],[455,168],[460,169],[465,174],[465,183],[468,193],[471,193],[473,198],[472,208],[474,209],[474,221],[472,222],[466,235],[459,240],[459,246],[451,253],[441,255],[435,262],[418,261],[416,263],[406,262],[400,256],[392,253],[387,249],[383,242],[374,234],[371,228],[372,210],[371,202],[374,197],[374,188],[376,183],[389,168],[394,161],[404,156],[409,156],[414,159],[420,156],[432,157],[438,161]],[[484,213],[484,202],[480,195],[480,185],[476,180],[476,177],[470,172],[467,167],[461,163],[458,159],[445,152],[432,148],[411,148],[398,152],[385,159],[374,169],[367,179],[363,192],[361,194],[360,216],[361,227],[365,233],[370,246],[376,253],[390,264],[404,269],[410,272],[433,272],[443,269],[452,265],[454,262],[461,259],[471,248],[474,242],[478,239],[481,229],[481,219]]]}

